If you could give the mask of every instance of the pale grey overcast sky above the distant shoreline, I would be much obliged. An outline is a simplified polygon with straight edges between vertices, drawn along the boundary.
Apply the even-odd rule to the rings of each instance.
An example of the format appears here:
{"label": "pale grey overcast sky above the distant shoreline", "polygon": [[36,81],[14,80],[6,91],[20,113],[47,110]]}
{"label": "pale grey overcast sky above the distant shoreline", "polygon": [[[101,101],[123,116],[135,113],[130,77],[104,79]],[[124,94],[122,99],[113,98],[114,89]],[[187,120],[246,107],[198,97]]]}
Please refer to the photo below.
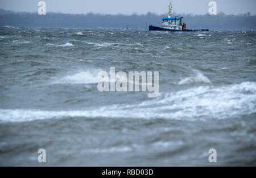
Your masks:
{"label": "pale grey overcast sky above the distant shoreline", "polygon": [[[0,0],[0,9],[37,12],[40,0]],[[44,0],[47,12],[69,14],[166,14],[170,0]],[[171,0],[177,13],[206,14],[210,0]],[[256,14],[256,0],[215,0],[217,12]]]}

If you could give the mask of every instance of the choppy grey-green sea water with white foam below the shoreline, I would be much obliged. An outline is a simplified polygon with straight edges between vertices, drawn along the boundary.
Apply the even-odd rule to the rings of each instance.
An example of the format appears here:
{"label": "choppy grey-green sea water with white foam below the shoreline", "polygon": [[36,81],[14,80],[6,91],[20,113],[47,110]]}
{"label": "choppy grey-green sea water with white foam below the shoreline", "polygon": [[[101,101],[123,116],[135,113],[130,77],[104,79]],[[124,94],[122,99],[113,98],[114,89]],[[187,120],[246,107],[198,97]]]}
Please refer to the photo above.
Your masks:
{"label": "choppy grey-green sea water with white foam below the shoreline", "polygon": [[[256,166],[255,49],[255,31],[1,27],[0,165]],[[110,67],[159,71],[159,96],[99,92]]]}

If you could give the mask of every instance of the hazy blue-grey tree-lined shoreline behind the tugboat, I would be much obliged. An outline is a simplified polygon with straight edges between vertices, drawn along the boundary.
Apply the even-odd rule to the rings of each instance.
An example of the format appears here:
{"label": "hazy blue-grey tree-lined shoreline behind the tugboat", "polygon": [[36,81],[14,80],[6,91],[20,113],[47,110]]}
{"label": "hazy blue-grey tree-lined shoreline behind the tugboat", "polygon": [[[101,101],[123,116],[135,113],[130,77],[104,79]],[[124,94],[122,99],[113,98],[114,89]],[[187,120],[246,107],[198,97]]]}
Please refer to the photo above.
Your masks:
{"label": "hazy blue-grey tree-lined shoreline behind the tugboat", "polygon": [[[181,14],[182,15],[182,14]],[[183,14],[187,28],[209,28],[212,30],[251,30],[256,29],[256,15],[215,16]],[[102,14],[61,14],[49,12],[38,15],[31,12],[13,12],[0,9],[0,26],[32,28],[111,28],[123,29],[126,26],[147,29],[148,25],[160,26],[162,15],[148,12],[144,15],[102,15]]]}

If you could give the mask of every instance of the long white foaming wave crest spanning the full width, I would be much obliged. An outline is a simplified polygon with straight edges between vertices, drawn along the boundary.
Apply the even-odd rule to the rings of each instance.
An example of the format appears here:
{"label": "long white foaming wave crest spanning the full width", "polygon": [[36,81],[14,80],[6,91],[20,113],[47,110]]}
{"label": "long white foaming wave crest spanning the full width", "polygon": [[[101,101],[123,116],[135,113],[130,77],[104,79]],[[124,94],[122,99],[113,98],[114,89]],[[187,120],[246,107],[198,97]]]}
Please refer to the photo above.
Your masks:
{"label": "long white foaming wave crest spanning the full width", "polygon": [[173,120],[225,119],[256,112],[256,83],[243,82],[223,87],[200,86],[161,93],[139,104],[107,105],[84,111],[36,111],[0,109],[2,122],[23,122],[49,118],[164,118]]}

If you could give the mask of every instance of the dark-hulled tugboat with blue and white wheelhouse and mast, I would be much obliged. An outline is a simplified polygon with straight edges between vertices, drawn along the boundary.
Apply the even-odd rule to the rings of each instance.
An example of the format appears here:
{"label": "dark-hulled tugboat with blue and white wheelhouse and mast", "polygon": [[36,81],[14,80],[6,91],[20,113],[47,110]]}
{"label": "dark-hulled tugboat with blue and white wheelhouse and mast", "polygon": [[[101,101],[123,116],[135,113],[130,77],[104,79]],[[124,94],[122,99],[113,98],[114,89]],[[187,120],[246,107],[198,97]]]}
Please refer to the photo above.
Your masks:
{"label": "dark-hulled tugboat with blue and white wheelhouse and mast", "polygon": [[168,18],[162,18],[162,27],[149,26],[150,31],[172,31],[172,32],[197,32],[209,31],[209,29],[186,29],[186,24],[181,22],[182,16],[171,17],[172,3],[169,3]]}

